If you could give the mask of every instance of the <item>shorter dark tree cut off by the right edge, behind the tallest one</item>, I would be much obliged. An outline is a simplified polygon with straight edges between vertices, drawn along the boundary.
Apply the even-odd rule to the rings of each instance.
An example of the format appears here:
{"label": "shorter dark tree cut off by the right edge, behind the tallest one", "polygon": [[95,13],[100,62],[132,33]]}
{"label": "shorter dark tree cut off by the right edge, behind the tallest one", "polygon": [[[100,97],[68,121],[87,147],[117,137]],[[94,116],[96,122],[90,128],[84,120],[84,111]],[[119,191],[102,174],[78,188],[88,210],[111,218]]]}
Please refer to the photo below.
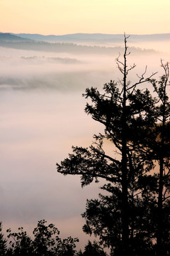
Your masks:
{"label": "shorter dark tree cut off by the right edge, behind the tallest one", "polygon": [[155,123],[152,127],[152,134],[155,139],[149,142],[152,153],[152,159],[157,161],[159,165],[159,173],[157,174],[157,255],[166,255],[167,246],[169,246],[169,156],[170,156],[170,144],[169,144],[169,130],[170,130],[170,102],[167,93],[167,87],[169,85],[169,63],[163,63],[161,61],[162,68],[164,69],[164,75],[160,80],[151,80],[154,87],[154,92],[157,95],[157,105],[155,105]]}

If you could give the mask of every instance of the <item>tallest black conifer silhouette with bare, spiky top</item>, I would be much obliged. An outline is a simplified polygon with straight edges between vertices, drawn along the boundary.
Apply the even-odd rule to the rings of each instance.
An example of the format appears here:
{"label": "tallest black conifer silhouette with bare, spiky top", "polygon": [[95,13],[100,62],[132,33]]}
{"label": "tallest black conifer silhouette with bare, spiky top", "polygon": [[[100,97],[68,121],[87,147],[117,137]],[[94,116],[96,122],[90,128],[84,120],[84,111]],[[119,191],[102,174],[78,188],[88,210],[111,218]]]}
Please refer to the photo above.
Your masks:
{"label": "tallest black conifer silhouette with bare, spiky top", "polygon": [[[154,98],[148,90],[142,92],[137,86],[149,82],[154,74],[145,78],[146,69],[145,73],[138,76],[138,81],[131,85],[128,74],[135,68],[135,64],[130,67],[127,65],[127,57],[130,54],[127,39],[125,36],[123,61],[120,56],[116,59],[123,79],[106,83],[103,93],[91,87],[87,88],[84,94],[84,97],[90,98],[92,102],[91,105],[86,104],[85,112],[105,126],[104,134],[94,135],[95,142],[89,149],[73,146],[73,154],[69,154],[69,158],[64,159],[61,164],[57,164],[57,171],[64,175],[81,175],[81,186],[88,185],[94,179],[98,182],[98,178],[106,180],[105,188],[111,188],[109,192],[116,201],[113,211],[117,224],[110,227],[113,228],[117,239],[112,239],[107,245],[113,247],[118,255],[132,254],[134,251],[132,240],[137,238],[135,200],[140,201],[137,195],[141,192],[137,184],[140,177],[152,168],[152,161],[140,154],[138,138],[144,130],[143,127],[146,127],[148,122],[153,122],[153,119],[146,119],[143,113],[153,108]],[[119,157],[106,154],[103,146],[106,140],[113,144],[113,149],[117,150]],[[91,230],[88,222],[86,224],[86,228]],[[101,242],[105,242],[104,238],[102,239]]]}

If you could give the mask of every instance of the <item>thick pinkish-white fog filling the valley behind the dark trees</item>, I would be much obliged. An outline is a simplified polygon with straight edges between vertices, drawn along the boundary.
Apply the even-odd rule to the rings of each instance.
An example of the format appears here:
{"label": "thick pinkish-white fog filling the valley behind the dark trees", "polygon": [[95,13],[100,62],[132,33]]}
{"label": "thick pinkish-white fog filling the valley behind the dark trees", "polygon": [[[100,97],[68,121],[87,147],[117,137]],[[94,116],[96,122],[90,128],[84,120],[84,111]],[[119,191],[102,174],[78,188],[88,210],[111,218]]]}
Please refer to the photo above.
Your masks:
{"label": "thick pinkish-white fog filling the valley behind the dark trees", "polygon": [[[119,53],[118,53],[119,54]],[[62,236],[89,236],[81,227],[86,198],[96,198],[99,184],[81,188],[77,176],[62,176],[55,164],[74,146],[89,146],[103,126],[84,113],[86,87],[101,89],[121,79],[118,55],[47,53],[0,48],[0,219],[7,228],[31,231],[42,218],[54,223]],[[130,80],[158,71],[167,54],[132,55]],[[111,152],[113,154],[113,152]],[[93,238],[94,239],[94,238]]]}

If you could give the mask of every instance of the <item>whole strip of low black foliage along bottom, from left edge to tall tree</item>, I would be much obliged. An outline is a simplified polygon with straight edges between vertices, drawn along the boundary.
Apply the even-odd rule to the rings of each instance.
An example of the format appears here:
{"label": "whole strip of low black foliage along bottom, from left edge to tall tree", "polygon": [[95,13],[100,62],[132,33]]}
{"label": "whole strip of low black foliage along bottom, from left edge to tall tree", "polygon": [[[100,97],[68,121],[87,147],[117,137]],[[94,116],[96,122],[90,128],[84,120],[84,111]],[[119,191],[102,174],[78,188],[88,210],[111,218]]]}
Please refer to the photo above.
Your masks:
{"label": "whole strip of low black foliage along bottom, from left edge to tall tree", "polygon": [[[33,230],[34,238],[30,238],[23,228],[18,233],[12,233],[11,228],[6,230],[8,240],[4,239],[2,225],[0,225],[0,252],[1,256],[107,256],[101,245],[94,241],[88,242],[84,252],[76,250],[78,238],[60,238],[60,231],[54,224],[46,224],[40,220]],[[8,243],[8,247],[7,247]]]}

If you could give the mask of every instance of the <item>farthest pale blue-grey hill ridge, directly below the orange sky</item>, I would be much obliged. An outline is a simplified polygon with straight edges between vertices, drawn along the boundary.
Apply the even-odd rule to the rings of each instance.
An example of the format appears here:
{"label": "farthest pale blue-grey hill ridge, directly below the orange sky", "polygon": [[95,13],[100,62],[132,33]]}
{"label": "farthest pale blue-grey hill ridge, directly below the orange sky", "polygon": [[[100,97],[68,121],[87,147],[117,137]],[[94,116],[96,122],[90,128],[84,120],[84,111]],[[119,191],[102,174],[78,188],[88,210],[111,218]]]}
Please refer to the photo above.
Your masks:
{"label": "farthest pale blue-grey hill ridge, directly below the orange sky", "polygon": [[[123,34],[103,34],[103,33],[74,33],[63,36],[43,36],[40,34],[18,33],[13,34],[21,38],[28,38],[36,41],[56,41],[56,42],[89,42],[89,43],[122,43]],[[130,35],[129,42],[144,41],[170,41],[170,33],[150,34],[150,35]]]}

